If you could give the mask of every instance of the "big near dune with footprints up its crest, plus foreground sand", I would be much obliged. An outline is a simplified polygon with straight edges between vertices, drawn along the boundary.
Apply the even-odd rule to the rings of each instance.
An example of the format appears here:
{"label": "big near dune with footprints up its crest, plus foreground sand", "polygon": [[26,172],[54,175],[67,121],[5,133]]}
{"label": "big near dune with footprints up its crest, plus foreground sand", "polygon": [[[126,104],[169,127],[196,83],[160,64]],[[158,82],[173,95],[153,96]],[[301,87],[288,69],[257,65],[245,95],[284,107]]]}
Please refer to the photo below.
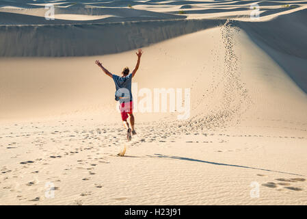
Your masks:
{"label": "big near dune with footprints up its crest, plus foreground sand", "polygon": [[191,88],[191,116],[137,112],[129,143],[94,60],[120,73],[134,51],[1,58],[0,203],[306,205],[305,16],[222,19],[144,47],[138,88]]}

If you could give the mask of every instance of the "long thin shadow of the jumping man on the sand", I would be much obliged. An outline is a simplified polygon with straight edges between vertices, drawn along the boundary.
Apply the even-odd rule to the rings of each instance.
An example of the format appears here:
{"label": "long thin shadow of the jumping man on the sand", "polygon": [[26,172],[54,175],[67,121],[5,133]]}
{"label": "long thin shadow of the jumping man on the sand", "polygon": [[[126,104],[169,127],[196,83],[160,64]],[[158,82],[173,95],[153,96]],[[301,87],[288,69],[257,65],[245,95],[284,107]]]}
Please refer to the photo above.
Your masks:
{"label": "long thin shadow of the jumping man on the sand", "polygon": [[282,171],[276,171],[276,170],[267,170],[267,169],[262,169],[262,168],[254,168],[250,166],[241,166],[241,165],[236,165],[236,164],[222,164],[222,163],[217,163],[217,162],[207,162],[201,159],[193,159],[193,158],[188,158],[188,157],[178,157],[178,156],[168,156],[168,155],[161,155],[155,153],[154,156],[152,155],[147,155],[148,157],[162,157],[162,158],[170,158],[170,159],[183,159],[187,160],[189,162],[200,162],[200,163],[205,163],[205,164],[214,164],[214,165],[220,165],[220,166],[233,166],[233,167],[239,167],[239,168],[248,168],[248,169],[254,169],[254,170],[264,170],[264,171],[269,171],[269,172],[279,172],[279,173],[284,173],[284,174],[289,174],[289,175],[297,175],[297,176],[304,176],[304,175],[299,175],[291,172],[282,172]]}

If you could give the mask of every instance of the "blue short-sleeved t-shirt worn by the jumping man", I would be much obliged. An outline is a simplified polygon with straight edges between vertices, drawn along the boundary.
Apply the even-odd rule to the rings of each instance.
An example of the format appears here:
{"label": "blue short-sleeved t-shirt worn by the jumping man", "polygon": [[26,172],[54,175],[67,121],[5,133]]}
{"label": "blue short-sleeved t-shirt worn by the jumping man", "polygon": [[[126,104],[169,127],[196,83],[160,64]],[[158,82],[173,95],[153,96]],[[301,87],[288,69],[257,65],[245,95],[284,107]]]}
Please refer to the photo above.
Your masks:
{"label": "blue short-sleeved t-shirt worn by the jumping man", "polygon": [[116,87],[116,96],[123,97],[120,99],[120,103],[126,103],[133,101],[131,92],[132,73],[126,77],[120,77],[118,75],[112,75],[112,78]]}

